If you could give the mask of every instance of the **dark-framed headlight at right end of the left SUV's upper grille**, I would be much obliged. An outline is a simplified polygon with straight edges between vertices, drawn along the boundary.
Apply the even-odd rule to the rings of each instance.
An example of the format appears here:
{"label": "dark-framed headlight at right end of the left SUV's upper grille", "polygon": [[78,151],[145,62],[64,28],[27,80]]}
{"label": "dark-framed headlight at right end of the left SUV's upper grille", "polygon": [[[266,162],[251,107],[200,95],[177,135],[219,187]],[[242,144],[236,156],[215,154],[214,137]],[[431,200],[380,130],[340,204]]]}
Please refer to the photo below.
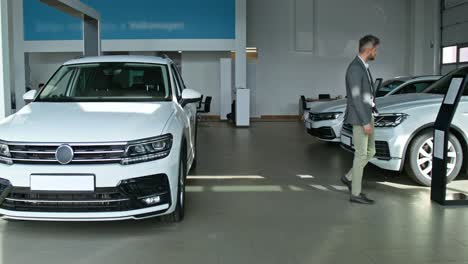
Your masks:
{"label": "dark-framed headlight at right end of the left SUV's upper grille", "polygon": [[172,148],[172,135],[130,142],[125,148],[122,165],[129,165],[169,156]]}

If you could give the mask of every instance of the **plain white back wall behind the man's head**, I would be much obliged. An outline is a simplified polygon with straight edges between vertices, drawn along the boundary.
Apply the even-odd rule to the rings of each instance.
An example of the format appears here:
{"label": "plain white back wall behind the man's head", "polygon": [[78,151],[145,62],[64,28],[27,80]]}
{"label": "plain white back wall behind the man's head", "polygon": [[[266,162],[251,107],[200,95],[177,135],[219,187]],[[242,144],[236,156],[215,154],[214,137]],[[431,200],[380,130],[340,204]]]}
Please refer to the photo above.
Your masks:
{"label": "plain white back wall behind the man's head", "polygon": [[259,49],[257,102],[261,115],[297,114],[302,94],[344,95],[346,68],[365,34],[382,41],[378,60],[371,65],[374,78],[411,73],[411,1],[316,1],[315,12],[310,14],[315,15],[315,25],[310,25],[315,32],[311,52],[295,51],[294,0],[248,1],[247,45]]}

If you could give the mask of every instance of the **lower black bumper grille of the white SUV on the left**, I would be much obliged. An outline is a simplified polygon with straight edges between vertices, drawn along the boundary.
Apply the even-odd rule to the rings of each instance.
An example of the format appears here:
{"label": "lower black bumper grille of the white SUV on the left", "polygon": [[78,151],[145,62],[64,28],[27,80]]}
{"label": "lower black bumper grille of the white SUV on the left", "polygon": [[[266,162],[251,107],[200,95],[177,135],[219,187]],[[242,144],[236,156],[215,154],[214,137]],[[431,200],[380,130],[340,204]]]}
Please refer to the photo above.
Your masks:
{"label": "lower black bumper grille of the white SUV on the left", "polygon": [[149,207],[141,199],[153,195],[160,196],[159,204],[171,203],[169,182],[163,174],[122,181],[117,187],[97,188],[94,192],[34,192],[19,187],[0,189],[5,190],[1,194],[4,199],[0,208],[11,211],[129,211]]}

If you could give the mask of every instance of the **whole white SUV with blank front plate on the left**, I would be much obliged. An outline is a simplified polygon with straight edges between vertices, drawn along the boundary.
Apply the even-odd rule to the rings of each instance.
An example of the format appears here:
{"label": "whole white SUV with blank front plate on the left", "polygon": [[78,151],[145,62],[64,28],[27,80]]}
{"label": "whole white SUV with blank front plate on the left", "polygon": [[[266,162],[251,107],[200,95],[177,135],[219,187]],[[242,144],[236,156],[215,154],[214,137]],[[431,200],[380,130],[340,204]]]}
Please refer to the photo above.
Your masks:
{"label": "whole white SUV with blank front plate on the left", "polygon": [[0,122],[0,215],[181,221],[200,97],[169,59],[66,62]]}

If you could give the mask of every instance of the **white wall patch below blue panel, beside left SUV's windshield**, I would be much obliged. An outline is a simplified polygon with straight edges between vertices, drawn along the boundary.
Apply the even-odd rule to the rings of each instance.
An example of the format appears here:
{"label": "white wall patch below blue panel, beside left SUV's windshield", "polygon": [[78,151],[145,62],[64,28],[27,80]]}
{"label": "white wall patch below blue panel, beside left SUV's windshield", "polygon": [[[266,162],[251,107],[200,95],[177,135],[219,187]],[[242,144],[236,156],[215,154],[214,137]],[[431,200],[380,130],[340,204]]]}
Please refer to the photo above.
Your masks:
{"label": "white wall patch below blue panel, beside left SUV's windshield", "polygon": [[[81,53],[30,53],[29,54],[29,67],[30,76],[29,80],[32,88],[37,88],[39,83],[45,83],[52,77],[52,74],[62,65],[65,61],[74,59],[81,56]],[[28,78],[26,78],[28,79]]]}

